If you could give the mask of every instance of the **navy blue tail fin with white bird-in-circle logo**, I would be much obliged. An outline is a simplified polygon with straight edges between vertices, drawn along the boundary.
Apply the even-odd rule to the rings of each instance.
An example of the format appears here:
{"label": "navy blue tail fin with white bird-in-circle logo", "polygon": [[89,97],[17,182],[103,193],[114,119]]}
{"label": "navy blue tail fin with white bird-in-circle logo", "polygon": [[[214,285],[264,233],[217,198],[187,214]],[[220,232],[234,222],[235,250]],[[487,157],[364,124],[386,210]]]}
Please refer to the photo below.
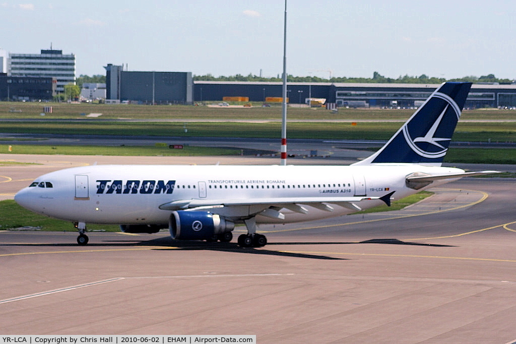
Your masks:
{"label": "navy blue tail fin with white bird-in-circle logo", "polygon": [[441,165],[471,83],[443,83],[375,154],[353,165]]}

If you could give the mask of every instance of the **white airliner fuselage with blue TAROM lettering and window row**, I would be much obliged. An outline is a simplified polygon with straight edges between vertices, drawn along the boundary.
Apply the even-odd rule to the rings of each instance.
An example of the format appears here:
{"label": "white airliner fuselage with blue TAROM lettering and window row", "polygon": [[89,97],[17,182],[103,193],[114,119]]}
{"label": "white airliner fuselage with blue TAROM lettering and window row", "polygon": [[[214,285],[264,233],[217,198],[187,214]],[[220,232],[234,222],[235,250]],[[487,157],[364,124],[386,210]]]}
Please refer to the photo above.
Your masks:
{"label": "white airliner fuselage with blue TAROM lettering and window row", "polygon": [[[104,224],[168,224],[171,211],[160,205],[182,200],[246,201],[276,198],[334,196],[381,197],[395,191],[398,200],[420,190],[406,185],[406,176],[462,173],[455,168],[414,164],[373,166],[149,166],[106,165],[76,167],[38,177],[15,196],[22,206],[50,217],[73,222]],[[428,187],[448,183],[434,181]],[[425,189],[425,188],[423,188]],[[367,209],[381,200],[362,200]],[[227,218],[256,214],[253,205],[221,206]],[[307,214],[282,209],[284,219],[256,216],[257,223],[287,223],[335,217],[357,211],[335,206],[328,211],[310,205]],[[213,211],[213,210],[212,210]],[[238,222],[238,221],[237,221]]]}

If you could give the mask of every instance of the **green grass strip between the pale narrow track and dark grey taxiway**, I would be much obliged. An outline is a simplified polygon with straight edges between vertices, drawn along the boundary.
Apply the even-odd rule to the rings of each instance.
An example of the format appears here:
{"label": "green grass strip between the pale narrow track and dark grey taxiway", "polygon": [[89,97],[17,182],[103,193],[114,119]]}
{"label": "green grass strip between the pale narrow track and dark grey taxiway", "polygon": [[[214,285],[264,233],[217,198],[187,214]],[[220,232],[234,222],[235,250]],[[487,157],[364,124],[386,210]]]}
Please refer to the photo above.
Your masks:
{"label": "green grass strip between the pale narrow track and dark grey taxiway", "polygon": [[[289,123],[289,138],[332,139],[332,140],[387,140],[400,127],[392,122],[351,123]],[[278,138],[281,123],[127,123],[127,122],[3,122],[4,133],[30,134],[84,134],[125,136],[178,136],[178,137],[244,137]],[[503,123],[459,123],[453,136],[454,141],[515,142],[516,122]]]}

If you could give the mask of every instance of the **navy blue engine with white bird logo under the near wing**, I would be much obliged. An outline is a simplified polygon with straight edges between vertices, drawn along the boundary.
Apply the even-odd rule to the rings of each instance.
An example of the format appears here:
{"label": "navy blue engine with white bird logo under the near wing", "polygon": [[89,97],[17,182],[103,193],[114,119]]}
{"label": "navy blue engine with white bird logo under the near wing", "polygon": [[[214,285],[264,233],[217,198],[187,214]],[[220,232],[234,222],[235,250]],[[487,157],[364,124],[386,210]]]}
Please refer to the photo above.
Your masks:
{"label": "navy blue engine with white bird logo under the near wing", "polygon": [[204,240],[231,232],[235,224],[206,211],[172,211],[168,222],[170,236],[179,240]]}

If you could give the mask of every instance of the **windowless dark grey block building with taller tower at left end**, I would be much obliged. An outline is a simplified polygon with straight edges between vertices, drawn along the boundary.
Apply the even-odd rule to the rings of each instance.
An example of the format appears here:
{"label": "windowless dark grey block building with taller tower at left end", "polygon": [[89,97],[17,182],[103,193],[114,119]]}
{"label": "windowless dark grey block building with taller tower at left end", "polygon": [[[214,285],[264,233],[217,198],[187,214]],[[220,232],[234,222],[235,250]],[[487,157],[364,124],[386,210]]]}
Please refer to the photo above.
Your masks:
{"label": "windowless dark grey block building with taller tower at left end", "polygon": [[192,104],[191,72],[129,72],[121,65],[106,67],[106,102]]}

